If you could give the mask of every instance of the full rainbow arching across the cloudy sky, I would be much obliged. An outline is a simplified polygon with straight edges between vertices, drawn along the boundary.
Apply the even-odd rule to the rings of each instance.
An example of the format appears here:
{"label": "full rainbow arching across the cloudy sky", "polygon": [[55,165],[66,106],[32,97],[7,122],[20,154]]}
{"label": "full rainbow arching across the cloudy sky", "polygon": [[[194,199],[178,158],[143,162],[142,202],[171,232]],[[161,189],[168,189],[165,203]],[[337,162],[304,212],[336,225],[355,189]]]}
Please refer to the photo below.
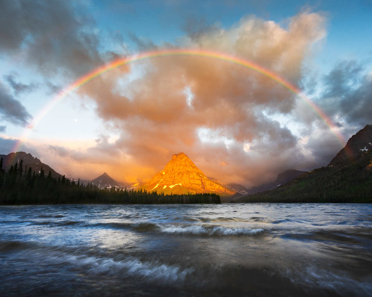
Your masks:
{"label": "full rainbow arching across the cloudy sky", "polygon": [[220,52],[214,52],[210,50],[203,50],[203,49],[165,49],[165,50],[157,50],[157,51],[151,51],[151,52],[144,52],[138,55],[133,56],[127,56],[125,58],[117,59],[115,61],[112,61],[108,64],[105,64],[103,66],[100,66],[97,69],[94,69],[93,71],[87,73],[84,76],[81,76],[79,79],[77,79],[73,84],[69,85],[67,88],[63,89],[54,99],[49,101],[49,103],[41,110],[41,112],[35,117],[33,120],[33,123],[29,125],[26,129],[26,132],[24,136],[17,141],[16,146],[13,148],[13,151],[18,151],[20,146],[22,145],[22,141],[27,139],[28,134],[32,130],[33,127],[35,127],[39,121],[45,116],[45,114],[48,113],[49,110],[51,110],[54,105],[56,105],[59,101],[61,101],[64,97],[66,97],[71,92],[76,91],[78,88],[80,88],[82,85],[86,84],[87,82],[91,81],[92,79],[96,78],[97,76],[102,75],[105,72],[108,72],[112,69],[115,69],[119,66],[126,65],[131,62],[141,61],[144,59],[151,59],[155,57],[167,57],[167,56],[199,56],[199,57],[205,57],[205,58],[212,58],[212,59],[218,59],[230,63],[234,63],[236,65],[241,65],[246,68],[249,68],[251,70],[254,70],[256,72],[259,72],[260,74],[267,76],[270,79],[273,79],[274,81],[278,82],[278,84],[282,85],[295,95],[297,95],[299,98],[301,98],[308,106],[314,110],[314,112],[318,115],[318,117],[321,118],[321,120],[324,121],[324,123],[328,126],[328,128],[331,130],[331,132],[336,136],[337,140],[340,142],[341,147],[343,147],[345,141],[343,136],[336,130],[336,127],[334,126],[331,119],[310,99],[308,99],[297,87],[292,85],[290,82],[286,81],[284,78],[280,77],[278,74],[263,68],[262,66],[253,63],[251,61],[248,61],[243,58],[238,58],[236,56],[227,55],[225,53]]}

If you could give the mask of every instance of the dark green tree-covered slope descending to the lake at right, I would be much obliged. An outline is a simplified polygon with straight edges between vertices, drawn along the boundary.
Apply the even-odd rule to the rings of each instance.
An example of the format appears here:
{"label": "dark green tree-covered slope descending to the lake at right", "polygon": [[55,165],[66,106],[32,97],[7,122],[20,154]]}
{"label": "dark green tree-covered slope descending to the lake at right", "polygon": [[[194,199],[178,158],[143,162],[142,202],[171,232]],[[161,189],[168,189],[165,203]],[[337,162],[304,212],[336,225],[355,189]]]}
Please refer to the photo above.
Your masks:
{"label": "dark green tree-covered slope descending to the lake at right", "polygon": [[232,202],[372,203],[372,153],[314,169],[285,185]]}

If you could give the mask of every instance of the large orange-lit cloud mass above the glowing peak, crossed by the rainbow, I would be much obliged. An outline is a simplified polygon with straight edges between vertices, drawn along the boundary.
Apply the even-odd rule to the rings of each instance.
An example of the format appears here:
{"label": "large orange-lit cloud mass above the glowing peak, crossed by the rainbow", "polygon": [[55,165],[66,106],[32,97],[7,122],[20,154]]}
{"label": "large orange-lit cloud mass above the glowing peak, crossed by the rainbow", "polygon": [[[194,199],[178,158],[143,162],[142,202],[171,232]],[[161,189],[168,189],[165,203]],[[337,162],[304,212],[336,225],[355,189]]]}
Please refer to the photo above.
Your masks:
{"label": "large orange-lit cloud mass above the glowing peak, crossed by the rainbow", "polygon": [[[299,85],[302,64],[326,36],[325,26],[321,13],[302,12],[288,21],[286,29],[248,16],[227,29],[213,26],[192,32],[177,45],[240,56]],[[319,164],[304,154],[303,144],[289,128],[270,118],[270,114],[291,118],[298,106],[294,94],[272,79],[196,56],[151,59],[131,67],[142,70],[130,84],[121,83],[132,73],[128,66],[79,90],[96,102],[99,117],[120,137],[115,143],[102,138],[85,153],[71,153],[75,162],[95,155],[111,164],[113,154],[121,164],[115,174],[148,180],[172,154],[183,151],[208,176],[248,186],[275,179],[286,169]],[[310,121],[317,117],[309,109],[302,112]],[[300,117],[298,121],[302,123]],[[200,134],[200,129],[208,135]]]}

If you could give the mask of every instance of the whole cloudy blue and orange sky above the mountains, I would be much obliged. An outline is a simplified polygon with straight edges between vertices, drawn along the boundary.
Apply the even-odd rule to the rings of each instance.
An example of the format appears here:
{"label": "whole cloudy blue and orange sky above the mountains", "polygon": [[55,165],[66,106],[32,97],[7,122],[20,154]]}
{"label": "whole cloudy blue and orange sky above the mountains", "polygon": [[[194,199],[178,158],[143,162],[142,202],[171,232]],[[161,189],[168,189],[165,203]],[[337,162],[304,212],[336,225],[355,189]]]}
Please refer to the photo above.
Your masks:
{"label": "whole cloudy blue and orange sky above the mountains", "polygon": [[[179,152],[246,187],[326,166],[372,124],[371,36],[369,0],[0,0],[0,154],[131,183]],[[205,56],[133,61],[71,90],[117,59],[174,49],[249,61],[300,96]]]}

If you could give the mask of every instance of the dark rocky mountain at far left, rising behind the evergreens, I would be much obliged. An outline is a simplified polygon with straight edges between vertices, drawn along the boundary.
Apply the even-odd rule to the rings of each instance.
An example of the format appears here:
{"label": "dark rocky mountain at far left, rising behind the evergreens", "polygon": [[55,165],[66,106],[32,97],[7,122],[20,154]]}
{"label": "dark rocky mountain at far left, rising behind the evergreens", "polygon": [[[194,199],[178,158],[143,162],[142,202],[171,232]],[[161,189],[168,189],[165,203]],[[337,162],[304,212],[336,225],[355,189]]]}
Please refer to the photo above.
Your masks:
{"label": "dark rocky mountain at far left, rising behind the evergreens", "polygon": [[40,173],[42,168],[45,175],[47,175],[50,170],[52,177],[62,178],[62,175],[56,172],[49,165],[42,163],[42,161],[40,161],[38,158],[33,157],[31,154],[26,154],[24,151],[17,151],[16,153],[0,155],[0,158],[1,157],[3,158],[3,167],[6,170],[9,170],[12,165],[14,165],[15,163],[19,163],[20,160],[23,160],[23,170],[25,170],[26,167],[31,167],[32,172],[35,171]]}

